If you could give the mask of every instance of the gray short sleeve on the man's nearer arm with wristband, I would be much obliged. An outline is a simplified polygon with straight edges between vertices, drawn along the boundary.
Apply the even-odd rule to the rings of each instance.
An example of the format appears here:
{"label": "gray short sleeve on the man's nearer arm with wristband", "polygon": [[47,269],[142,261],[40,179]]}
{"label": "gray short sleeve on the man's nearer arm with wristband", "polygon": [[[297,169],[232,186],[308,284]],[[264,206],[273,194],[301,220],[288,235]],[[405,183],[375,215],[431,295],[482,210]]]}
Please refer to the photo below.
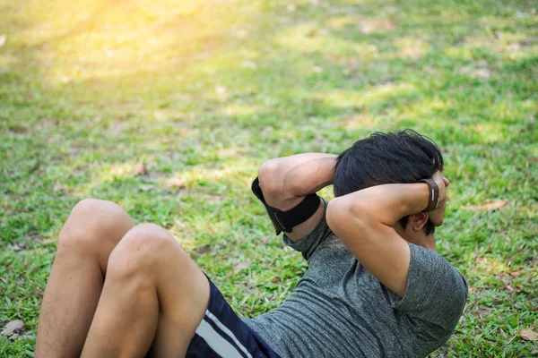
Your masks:
{"label": "gray short sleeve on the man's nearer arm with wristband", "polygon": [[382,286],[386,300],[436,336],[452,333],[467,301],[464,276],[436,251],[409,243],[411,262],[404,298]]}

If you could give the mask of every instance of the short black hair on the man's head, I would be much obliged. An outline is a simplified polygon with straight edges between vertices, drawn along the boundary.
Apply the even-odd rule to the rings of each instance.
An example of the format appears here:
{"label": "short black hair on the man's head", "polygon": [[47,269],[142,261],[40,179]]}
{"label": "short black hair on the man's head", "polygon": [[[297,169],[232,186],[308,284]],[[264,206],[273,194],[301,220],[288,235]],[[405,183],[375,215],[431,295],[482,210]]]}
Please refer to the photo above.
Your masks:
{"label": "short black hair on the man's head", "polygon": [[[442,166],[438,146],[418,132],[375,132],[344,150],[334,169],[334,196],[358,192],[370,186],[388,183],[417,183],[430,178]],[[407,225],[408,217],[400,219]],[[428,220],[425,233],[435,226]]]}

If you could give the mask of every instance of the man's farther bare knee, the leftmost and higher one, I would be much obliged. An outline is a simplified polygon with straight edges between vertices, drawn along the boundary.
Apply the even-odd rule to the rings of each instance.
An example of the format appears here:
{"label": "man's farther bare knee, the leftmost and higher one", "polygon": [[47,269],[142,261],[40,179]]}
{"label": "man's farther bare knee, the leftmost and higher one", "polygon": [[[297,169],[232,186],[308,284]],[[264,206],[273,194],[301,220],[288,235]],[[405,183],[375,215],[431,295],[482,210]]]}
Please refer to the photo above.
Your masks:
{"label": "man's farther bare knee, the leftmost and higher one", "polygon": [[84,199],[74,206],[62,227],[58,246],[88,249],[103,245],[105,241],[116,245],[132,226],[133,221],[126,211],[114,202]]}

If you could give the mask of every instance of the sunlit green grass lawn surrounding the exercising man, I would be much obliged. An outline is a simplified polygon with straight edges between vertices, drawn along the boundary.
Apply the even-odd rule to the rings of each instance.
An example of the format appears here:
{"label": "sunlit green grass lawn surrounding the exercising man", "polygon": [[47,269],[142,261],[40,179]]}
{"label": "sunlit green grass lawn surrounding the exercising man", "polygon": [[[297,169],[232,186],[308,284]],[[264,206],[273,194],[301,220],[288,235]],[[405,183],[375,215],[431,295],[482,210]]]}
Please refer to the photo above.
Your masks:
{"label": "sunlit green grass lawn surrounding the exercising man", "polygon": [[[444,150],[438,247],[470,284],[455,336],[433,355],[538,355],[519,334],[538,329],[537,11],[522,0],[0,0],[0,326],[28,330],[0,338],[0,356],[33,355],[56,236],[78,200],[167,227],[255,315],[307,268],[249,191],[257,166],[404,127]],[[148,173],[134,175],[141,161]],[[495,200],[507,204],[483,206]]]}

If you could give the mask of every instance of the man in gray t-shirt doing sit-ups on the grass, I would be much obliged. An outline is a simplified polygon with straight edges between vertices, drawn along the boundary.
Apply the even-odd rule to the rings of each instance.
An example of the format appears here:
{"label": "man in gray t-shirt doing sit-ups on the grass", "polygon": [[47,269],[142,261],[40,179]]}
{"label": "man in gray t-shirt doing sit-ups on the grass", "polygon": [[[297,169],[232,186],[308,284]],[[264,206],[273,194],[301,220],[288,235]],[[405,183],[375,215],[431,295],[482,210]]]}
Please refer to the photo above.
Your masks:
{"label": "man in gray t-shirt doing sit-ups on the grass", "polygon": [[[448,181],[416,132],[340,156],[268,160],[253,191],[308,271],[279,307],[240,319],[160,226],[82,200],[58,238],[36,357],[404,357],[443,345],[464,277],[436,252]],[[424,180],[424,182],[421,182]],[[334,183],[327,203],[316,192]]]}

